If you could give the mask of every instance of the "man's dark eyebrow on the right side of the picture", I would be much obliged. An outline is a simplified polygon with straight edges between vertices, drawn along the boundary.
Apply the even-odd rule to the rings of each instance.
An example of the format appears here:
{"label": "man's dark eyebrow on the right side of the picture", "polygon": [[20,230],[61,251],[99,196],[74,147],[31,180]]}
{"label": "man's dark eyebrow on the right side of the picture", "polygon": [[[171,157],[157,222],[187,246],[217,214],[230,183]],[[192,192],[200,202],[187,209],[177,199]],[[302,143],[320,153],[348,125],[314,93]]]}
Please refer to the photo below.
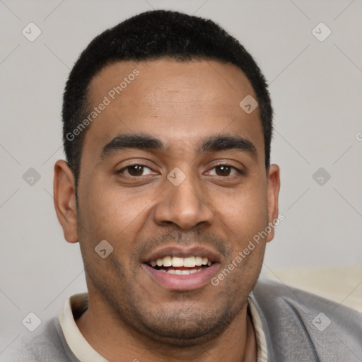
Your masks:
{"label": "man's dark eyebrow on the right side of the picture", "polygon": [[199,152],[207,153],[233,149],[250,153],[251,156],[257,158],[257,148],[252,142],[241,136],[211,136],[203,142]]}

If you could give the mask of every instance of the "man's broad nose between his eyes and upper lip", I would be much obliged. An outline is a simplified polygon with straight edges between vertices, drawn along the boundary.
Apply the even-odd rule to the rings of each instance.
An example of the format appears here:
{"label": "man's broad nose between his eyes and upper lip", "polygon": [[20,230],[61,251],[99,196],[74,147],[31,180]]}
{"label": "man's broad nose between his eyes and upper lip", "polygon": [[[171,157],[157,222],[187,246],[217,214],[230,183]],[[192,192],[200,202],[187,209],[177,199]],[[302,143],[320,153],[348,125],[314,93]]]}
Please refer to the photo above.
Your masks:
{"label": "man's broad nose between his eyes and upper lip", "polygon": [[182,229],[192,229],[214,222],[211,199],[202,182],[190,174],[180,185],[165,179],[165,191],[154,209],[155,222],[160,226],[173,223]]}

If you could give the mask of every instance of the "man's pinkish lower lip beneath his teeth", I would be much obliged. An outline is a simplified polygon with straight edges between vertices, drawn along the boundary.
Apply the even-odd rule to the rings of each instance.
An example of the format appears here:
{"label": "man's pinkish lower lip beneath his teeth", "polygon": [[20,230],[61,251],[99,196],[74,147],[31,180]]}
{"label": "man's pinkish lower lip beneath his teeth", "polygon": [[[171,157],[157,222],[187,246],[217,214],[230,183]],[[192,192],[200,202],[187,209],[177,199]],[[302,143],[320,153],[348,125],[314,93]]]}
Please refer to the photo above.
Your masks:
{"label": "man's pinkish lower lip beneath his teeth", "polygon": [[208,267],[197,273],[177,275],[168,274],[157,269],[153,269],[147,264],[142,264],[148,275],[151,276],[160,286],[173,291],[191,291],[193,289],[201,288],[210,283],[210,279],[218,269],[218,263],[214,263],[211,267]]}

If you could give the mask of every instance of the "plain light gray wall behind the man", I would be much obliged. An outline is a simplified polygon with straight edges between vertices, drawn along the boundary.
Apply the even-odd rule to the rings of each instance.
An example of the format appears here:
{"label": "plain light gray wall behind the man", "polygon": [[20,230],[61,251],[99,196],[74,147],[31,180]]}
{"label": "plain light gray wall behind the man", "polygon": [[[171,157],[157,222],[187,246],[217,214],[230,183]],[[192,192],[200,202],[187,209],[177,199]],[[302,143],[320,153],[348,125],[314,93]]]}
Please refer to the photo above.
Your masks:
{"label": "plain light gray wall behind the man", "polygon": [[[152,8],[220,23],[270,84],[285,220],[265,266],[361,265],[361,0],[0,0],[0,352],[30,333],[21,324],[29,312],[58,315],[86,288],[78,244],[64,240],[52,199],[64,83],[95,35]],[[30,22],[42,31],[34,42],[21,33]],[[323,42],[312,33],[320,22],[332,30]],[[320,167],[332,176],[322,186],[312,177]],[[41,175],[33,186],[23,180],[29,168]]]}

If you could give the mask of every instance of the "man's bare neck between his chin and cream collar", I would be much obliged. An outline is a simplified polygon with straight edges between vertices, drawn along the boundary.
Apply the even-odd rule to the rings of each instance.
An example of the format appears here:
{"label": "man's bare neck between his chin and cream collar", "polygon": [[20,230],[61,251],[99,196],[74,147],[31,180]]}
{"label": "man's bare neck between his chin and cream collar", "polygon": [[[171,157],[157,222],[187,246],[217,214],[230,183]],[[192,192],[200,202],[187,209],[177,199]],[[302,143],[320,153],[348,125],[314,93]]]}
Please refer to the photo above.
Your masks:
{"label": "man's bare neck between his chin and cream collar", "polygon": [[[106,317],[105,317],[106,316]],[[89,298],[88,310],[76,325],[89,344],[110,362],[255,362],[257,343],[247,304],[228,328],[195,346],[175,346],[155,341],[119,320],[101,299]]]}

